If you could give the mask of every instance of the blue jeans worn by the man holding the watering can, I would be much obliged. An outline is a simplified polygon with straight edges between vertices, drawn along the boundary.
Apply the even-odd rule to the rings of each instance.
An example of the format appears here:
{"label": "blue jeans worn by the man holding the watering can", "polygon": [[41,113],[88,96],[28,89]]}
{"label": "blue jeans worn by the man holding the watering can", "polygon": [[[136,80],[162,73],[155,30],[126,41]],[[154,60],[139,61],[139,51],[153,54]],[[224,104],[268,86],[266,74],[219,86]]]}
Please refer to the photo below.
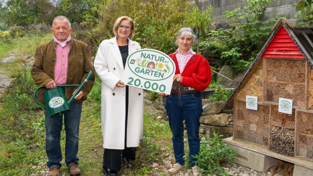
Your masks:
{"label": "blue jeans worn by the man holding the watering can", "polygon": [[[82,110],[82,102],[72,103],[70,111],[64,114],[64,125],[66,132],[65,144],[65,162],[69,167],[78,164],[78,137],[79,137],[79,122]],[[48,110],[45,109],[45,122],[46,122],[46,153],[48,157],[47,166],[61,167],[60,161],[62,160],[60,137],[62,130],[62,118],[59,115],[50,118]]]}

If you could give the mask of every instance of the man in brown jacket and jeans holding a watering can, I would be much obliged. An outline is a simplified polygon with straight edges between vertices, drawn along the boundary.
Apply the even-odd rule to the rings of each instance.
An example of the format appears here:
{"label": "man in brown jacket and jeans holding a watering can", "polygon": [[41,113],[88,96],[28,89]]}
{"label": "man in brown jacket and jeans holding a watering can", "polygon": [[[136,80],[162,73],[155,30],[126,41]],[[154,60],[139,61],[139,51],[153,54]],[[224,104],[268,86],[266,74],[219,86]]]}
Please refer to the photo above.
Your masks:
{"label": "man in brown jacket and jeans holding a watering can", "polygon": [[[53,40],[37,47],[35,62],[32,68],[32,77],[35,84],[45,86],[46,89],[55,88],[60,84],[81,84],[91,69],[88,46],[78,40],[71,38],[71,23],[64,16],[57,16],[52,22],[51,31]],[[66,132],[65,162],[71,175],[80,175],[78,167],[78,137],[79,123],[82,110],[82,101],[87,99],[95,77],[92,76],[83,89],[75,96],[75,101],[70,111],[64,114],[64,125]],[[43,102],[42,93],[38,92],[38,99]],[[65,94],[69,100],[76,88],[66,87]],[[59,174],[62,160],[60,148],[60,132],[62,129],[62,115],[50,117],[45,109],[46,123],[46,153],[48,157],[47,166],[49,176]]]}

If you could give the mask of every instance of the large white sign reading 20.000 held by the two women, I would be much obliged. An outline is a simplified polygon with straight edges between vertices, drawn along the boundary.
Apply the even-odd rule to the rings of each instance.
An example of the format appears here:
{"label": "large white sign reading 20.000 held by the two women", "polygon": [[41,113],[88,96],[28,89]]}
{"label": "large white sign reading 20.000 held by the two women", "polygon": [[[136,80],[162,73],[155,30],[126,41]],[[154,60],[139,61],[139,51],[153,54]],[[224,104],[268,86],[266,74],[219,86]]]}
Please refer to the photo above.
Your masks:
{"label": "large white sign reading 20.000 held by the two women", "polygon": [[174,61],[154,49],[140,49],[127,57],[124,84],[170,94],[175,74]]}

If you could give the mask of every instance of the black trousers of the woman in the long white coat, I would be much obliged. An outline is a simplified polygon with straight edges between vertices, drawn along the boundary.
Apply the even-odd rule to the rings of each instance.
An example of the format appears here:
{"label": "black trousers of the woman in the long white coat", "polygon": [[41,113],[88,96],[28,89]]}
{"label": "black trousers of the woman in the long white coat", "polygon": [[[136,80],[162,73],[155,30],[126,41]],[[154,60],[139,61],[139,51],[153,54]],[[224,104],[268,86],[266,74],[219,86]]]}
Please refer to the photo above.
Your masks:
{"label": "black trousers of the woman in the long white coat", "polygon": [[123,150],[116,149],[104,149],[103,153],[103,167],[107,167],[111,170],[120,170],[121,168],[121,160],[135,160],[136,156],[136,148],[128,148],[126,146],[127,142],[127,117],[128,117],[128,95],[129,89],[126,86],[126,121],[125,121],[125,146]]}

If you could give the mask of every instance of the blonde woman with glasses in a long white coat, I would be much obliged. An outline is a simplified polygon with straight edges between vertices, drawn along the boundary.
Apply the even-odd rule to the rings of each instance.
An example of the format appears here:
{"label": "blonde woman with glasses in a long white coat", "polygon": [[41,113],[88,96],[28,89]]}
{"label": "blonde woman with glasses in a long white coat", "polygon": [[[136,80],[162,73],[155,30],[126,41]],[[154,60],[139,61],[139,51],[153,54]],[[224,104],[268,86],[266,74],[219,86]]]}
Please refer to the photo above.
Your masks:
{"label": "blonde woman with glasses in a long white coat", "polygon": [[103,136],[103,169],[106,175],[117,175],[121,160],[135,160],[143,131],[142,89],[126,86],[120,79],[128,55],[140,45],[132,41],[134,22],[130,17],[119,17],[113,27],[115,37],[99,46],[95,69],[102,81],[101,125]]}

